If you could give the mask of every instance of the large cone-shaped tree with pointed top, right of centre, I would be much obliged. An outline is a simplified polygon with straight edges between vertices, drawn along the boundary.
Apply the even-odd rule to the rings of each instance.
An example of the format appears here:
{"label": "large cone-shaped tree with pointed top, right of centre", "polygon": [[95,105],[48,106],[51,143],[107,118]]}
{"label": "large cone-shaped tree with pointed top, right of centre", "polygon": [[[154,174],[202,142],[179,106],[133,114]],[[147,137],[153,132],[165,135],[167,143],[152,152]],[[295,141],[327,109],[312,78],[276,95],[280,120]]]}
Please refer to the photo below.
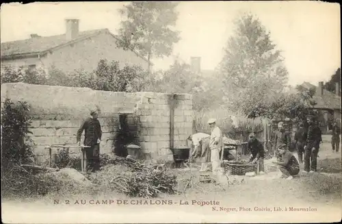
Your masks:
{"label": "large cone-shaped tree with pointed top, right of centre", "polygon": [[229,109],[247,115],[255,105],[267,107],[274,101],[287,83],[288,72],[281,52],[258,18],[244,14],[235,25],[218,70]]}

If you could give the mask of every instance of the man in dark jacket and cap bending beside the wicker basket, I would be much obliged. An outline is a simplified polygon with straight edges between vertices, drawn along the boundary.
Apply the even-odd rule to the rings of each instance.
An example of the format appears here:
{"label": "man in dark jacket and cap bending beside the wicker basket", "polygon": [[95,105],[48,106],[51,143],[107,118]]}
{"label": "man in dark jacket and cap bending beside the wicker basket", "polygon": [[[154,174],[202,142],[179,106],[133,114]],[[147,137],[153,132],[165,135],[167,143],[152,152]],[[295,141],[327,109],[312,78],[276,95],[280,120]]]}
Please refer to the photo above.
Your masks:
{"label": "man in dark jacket and cap bending beside the wicker basket", "polygon": [[252,163],[257,162],[259,164],[259,173],[264,173],[263,168],[263,158],[264,158],[264,150],[263,150],[263,144],[255,138],[255,134],[251,133],[250,136],[248,136],[248,143],[247,143],[247,149],[250,151],[250,161]]}

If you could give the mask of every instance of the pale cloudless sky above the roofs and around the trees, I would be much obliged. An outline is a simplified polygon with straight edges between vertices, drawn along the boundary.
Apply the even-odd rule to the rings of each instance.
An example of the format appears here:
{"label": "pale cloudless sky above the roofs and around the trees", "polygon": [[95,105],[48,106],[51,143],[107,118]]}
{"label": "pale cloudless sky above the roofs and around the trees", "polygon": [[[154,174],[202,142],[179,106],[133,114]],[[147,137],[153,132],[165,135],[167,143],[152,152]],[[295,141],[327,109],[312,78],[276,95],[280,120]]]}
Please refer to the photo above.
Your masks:
{"label": "pale cloudless sky above the roofs and around the trees", "polygon": [[[80,31],[120,27],[118,9],[127,2],[11,3],[1,5],[1,42],[65,32],[65,18],[79,18]],[[319,1],[183,1],[177,6],[175,29],[181,40],[173,55],[154,60],[155,69],[168,69],[175,58],[201,58],[201,68],[213,70],[233,35],[233,20],[251,12],[271,33],[282,51],[289,84],[328,81],[341,66],[340,12],[337,3]]]}

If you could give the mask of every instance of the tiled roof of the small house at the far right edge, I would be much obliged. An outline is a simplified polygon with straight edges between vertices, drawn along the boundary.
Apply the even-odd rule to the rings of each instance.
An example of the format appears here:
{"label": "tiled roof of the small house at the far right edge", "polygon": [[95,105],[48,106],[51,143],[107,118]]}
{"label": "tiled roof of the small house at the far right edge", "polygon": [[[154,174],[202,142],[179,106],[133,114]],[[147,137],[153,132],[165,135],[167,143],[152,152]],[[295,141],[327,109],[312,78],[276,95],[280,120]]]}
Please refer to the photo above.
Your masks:
{"label": "tiled roof of the small house at the far right edge", "polygon": [[[301,86],[307,89],[317,88],[317,86],[308,82],[304,82]],[[323,90],[323,95],[321,96],[315,95],[314,99],[317,103],[315,105],[315,108],[341,110],[341,97],[332,92],[329,92],[328,90]]]}

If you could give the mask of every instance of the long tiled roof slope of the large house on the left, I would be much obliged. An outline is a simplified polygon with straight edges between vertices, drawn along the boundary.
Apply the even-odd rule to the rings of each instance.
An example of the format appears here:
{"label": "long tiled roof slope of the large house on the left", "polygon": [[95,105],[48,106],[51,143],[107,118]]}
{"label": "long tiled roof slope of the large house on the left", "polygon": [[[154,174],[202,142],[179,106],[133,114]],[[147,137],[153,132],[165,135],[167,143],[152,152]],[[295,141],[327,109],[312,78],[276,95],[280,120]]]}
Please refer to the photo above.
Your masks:
{"label": "long tiled roof slope of the large house on the left", "polygon": [[67,40],[65,34],[55,36],[41,36],[36,38],[29,38],[26,40],[16,40],[1,43],[1,58],[12,55],[23,55],[29,53],[41,53],[64,45],[71,41],[77,41],[87,36],[99,34],[105,29],[94,29],[85,32],[79,32],[79,36],[75,40]]}

